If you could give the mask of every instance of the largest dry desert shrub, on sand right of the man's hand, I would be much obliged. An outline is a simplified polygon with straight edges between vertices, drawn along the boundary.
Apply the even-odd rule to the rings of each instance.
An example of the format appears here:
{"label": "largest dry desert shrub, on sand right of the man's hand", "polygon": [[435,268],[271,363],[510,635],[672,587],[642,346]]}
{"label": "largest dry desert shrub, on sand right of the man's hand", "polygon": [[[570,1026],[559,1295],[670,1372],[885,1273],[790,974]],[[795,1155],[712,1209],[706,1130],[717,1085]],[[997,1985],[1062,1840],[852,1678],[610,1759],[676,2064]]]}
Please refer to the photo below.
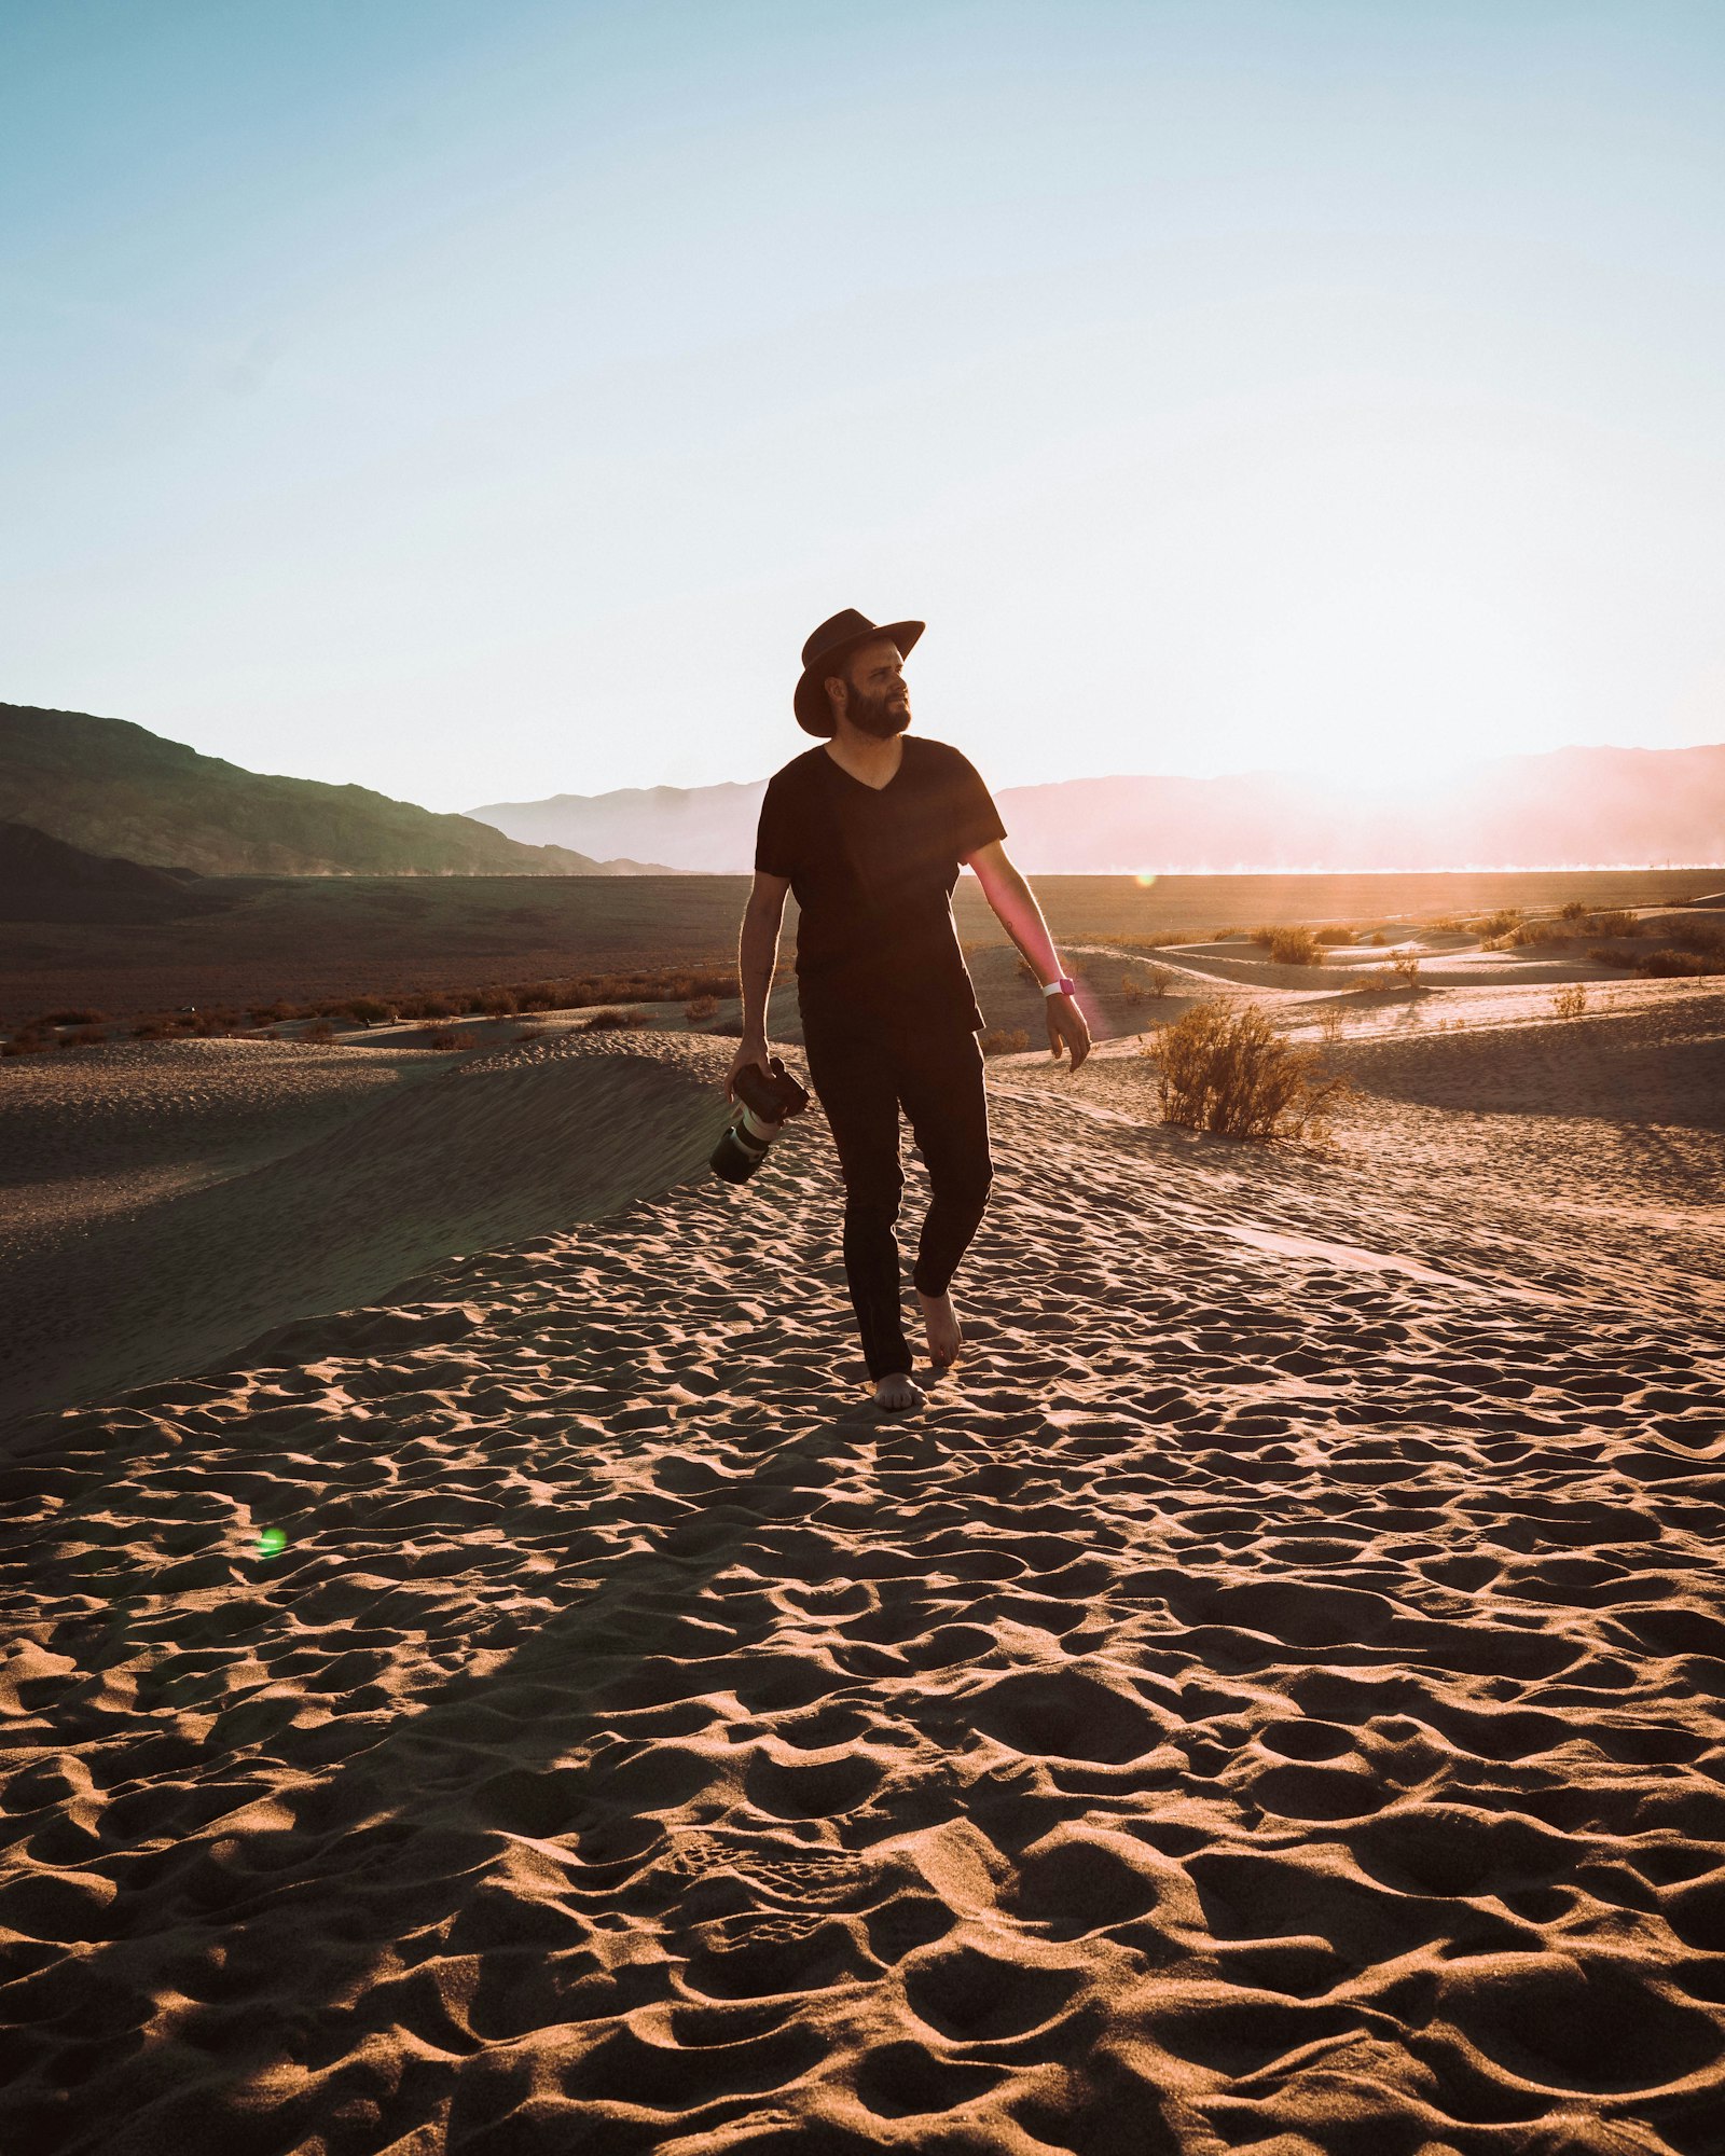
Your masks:
{"label": "largest dry desert shrub, on sand right of the man's hand", "polygon": [[1352,1087],[1320,1078],[1315,1048],[1294,1048],[1261,1011],[1195,1003],[1149,1050],[1164,1123],[1227,1138],[1300,1138],[1328,1132],[1328,1110]]}

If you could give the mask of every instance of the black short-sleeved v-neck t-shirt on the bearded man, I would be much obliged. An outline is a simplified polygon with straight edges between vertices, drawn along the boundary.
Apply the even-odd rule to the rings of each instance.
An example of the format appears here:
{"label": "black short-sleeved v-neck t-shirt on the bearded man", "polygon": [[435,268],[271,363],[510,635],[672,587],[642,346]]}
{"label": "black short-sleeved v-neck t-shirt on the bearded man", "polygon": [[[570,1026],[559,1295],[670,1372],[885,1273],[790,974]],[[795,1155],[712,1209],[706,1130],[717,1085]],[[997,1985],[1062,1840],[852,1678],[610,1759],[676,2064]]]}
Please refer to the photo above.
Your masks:
{"label": "black short-sleeved v-neck t-shirt on the bearded man", "polygon": [[960,865],[1007,828],[977,768],[947,742],[906,733],[884,787],[815,746],[774,772],[755,867],[798,903],[796,990],[804,1026],[983,1015],[957,946]]}

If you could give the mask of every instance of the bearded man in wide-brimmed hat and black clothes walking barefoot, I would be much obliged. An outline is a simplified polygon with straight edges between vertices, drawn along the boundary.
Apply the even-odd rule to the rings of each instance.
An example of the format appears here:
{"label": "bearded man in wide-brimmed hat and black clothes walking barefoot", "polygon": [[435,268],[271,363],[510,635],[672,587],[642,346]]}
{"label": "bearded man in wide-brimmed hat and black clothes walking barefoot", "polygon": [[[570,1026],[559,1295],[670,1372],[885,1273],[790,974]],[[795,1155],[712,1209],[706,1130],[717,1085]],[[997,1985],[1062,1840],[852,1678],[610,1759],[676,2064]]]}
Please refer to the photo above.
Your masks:
{"label": "bearded man in wide-brimmed hat and black clothes walking barefoot", "polygon": [[854,608],[802,647],[794,709],[822,737],[768,780],[755,888],[742,921],[742,1046],[724,1082],[768,1061],[765,1009],[785,893],[798,901],[796,983],[809,1082],[826,1108],[845,1179],[845,1279],[882,1408],[923,1404],[899,1302],[899,1106],[934,1190],[912,1285],[929,1363],[957,1360],[957,1261],[988,1203],[981,1011],[953,929],[968,865],[1048,998],[1048,1048],[1091,1050],[1076,983],[1061,972],[1041,908],[1007,860],[988,787],[955,748],[914,740],[903,660],[921,621],[878,627]]}

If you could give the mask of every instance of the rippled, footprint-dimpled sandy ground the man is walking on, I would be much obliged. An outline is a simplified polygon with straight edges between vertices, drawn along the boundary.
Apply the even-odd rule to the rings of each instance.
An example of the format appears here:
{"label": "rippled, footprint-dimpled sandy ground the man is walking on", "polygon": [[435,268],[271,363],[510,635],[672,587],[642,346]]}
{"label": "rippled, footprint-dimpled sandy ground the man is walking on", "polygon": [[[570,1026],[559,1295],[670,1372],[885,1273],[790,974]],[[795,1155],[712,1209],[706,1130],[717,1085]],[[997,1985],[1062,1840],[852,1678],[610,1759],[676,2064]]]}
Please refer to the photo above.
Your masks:
{"label": "rippled, footprint-dimpled sandy ground the man is walking on", "polygon": [[1725,996],[1412,1009],[1326,1151],[990,1065],[901,1423],[727,1041],[211,1054],[203,1373],[0,1477],[0,2147],[1723,2150]]}

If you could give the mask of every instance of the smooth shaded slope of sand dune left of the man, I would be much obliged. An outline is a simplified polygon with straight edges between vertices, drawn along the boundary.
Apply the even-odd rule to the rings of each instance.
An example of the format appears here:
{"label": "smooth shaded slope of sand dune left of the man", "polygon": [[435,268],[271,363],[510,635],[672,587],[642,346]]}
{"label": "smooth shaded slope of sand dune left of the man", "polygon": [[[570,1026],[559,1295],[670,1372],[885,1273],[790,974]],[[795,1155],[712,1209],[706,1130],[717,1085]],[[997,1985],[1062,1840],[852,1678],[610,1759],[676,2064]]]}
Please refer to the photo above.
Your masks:
{"label": "smooth shaded slope of sand dune left of the man", "polygon": [[[190,1110],[179,1128],[160,1089],[108,1063],[140,1052],[104,1050],[71,1082],[88,1095],[106,1173],[39,1173],[28,1186],[37,1233],[13,1231],[0,1255],[0,1414],[196,1369],[457,1250],[591,1218],[692,1175],[722,1128],[722,1100],[675,1052],[640,1063],[619,1039],[552,1037],[477,1059],[168,1044],[179,1046],[170,1100]],[[246,1138],[261,1143],[272,1100],[287,1132],[298,1121],[313,1134],[250,1166]],[[242,1173],[207,1179],[224,1125]],[[28,1166],[50,1164],[22,1132],[15,1147]],[[188,1190],[194,1175],[203,1188]]]}

